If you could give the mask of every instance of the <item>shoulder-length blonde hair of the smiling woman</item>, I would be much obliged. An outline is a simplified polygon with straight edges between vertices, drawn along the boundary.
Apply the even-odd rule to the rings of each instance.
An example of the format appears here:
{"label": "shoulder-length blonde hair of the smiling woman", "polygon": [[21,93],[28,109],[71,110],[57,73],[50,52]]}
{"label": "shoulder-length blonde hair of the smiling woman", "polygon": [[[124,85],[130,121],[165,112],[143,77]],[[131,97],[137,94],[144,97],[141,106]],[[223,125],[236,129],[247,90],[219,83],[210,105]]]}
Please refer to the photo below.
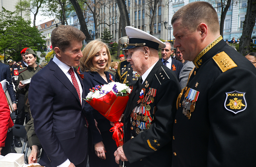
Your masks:
{"label": "shoulder-length blonde hair of the smiling woman", "polygon": [[109,47],[106,43],[104,43],[101,39],[95,39],[90,41],[85,48],[83,49],[83,57],[80,59],[80,69],[82,72],[84,71],[92,71],[97,72],[99,71],[98,68],[94,67],[92,60],[93,57],[103,49],[103,47],[106,48],[106,52],[108,55],[108,62],[106,64],[106,67],[104,68],[104,72],[108,71],[111,63],[111,56],[109,52]]}

